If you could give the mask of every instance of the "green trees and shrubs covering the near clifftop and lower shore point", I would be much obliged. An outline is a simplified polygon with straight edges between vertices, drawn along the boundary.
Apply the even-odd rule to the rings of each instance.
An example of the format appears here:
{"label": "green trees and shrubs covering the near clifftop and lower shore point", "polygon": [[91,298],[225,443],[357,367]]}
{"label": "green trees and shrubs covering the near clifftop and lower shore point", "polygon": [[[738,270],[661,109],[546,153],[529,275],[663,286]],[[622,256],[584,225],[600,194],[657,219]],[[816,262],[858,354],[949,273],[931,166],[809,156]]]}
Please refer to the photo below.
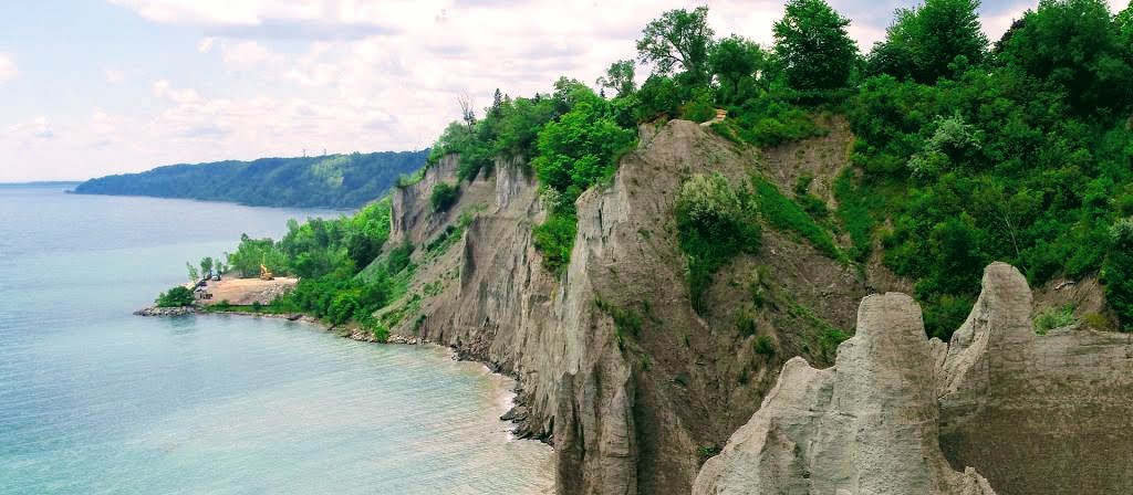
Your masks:
{"label": "green trees and shrubs covering the near clifftop and lower shore point", "polygon": [[[727,118],[713,131],[766,148],[823,136],[826,118],[844,115],[855,144],[836,201],[813,196],[806,177],[781,191],[758,174],[736,184],[692,171],[674,215],[693,302],[731,257],[774,228],[847,267],[879,257],[914,281],[927,331],[945,340],[995,260],[1020,267],[1032,286],[1096,275],[1113,310],[1096,327],[1133,329],[1133,14],[1110,12],[1101,0],[1042,0],[991,41],[978,7],[927,0],[900,9],[864,54],[846,33],[850,19],[823,0],[787,2],[772,46],[717,37],[707,8],[671,10],[645,27],[636,58],[595,81],[597,90],[561,78],[530,97],[496,90],[483,112],[462,102],[428,162],[458,154],[460,181],[491,174],[499,157],[528,164],[548,210],[534,244],[545,268],[561,273],[574,200],[613,176],[639,124],[707,122],[719,107]],[[651,68],[640,86],[638,62]],[[449,208],[458,185],[436,189],[434,207]],[[414,269],[410,253],[426,246],[383,251],[387,225],[368,234],[351,225],[389,220],[365,217],[292,225],[284,241],[245,240],[238,254],[304,277],[281,305],[384,332],[369,314],[398,293],[397,280]],[[377,252],[386,254],[376,271],[359,276]]]}

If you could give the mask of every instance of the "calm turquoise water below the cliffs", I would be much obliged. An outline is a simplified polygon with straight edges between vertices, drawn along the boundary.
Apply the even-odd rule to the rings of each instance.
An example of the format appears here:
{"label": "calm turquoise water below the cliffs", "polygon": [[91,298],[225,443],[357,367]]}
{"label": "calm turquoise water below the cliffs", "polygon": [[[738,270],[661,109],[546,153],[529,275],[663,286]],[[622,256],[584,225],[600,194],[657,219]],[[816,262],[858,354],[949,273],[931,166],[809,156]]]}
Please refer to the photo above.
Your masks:
{"label": "calm turquoise water below the cliffs", "polygon": [[337,215],[0,188],[0,494],[544,493],[504,379],[273,319],[130,315],[185,260]]}

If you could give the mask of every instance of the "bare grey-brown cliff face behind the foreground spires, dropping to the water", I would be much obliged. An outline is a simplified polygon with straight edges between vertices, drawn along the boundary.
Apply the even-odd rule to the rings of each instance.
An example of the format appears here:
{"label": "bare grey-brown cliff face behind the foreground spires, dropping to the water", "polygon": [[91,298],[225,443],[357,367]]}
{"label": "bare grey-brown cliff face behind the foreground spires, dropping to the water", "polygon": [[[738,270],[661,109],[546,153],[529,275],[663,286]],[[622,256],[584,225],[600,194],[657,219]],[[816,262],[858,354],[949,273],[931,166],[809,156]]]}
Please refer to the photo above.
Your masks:
{"label": "bare grey-brown cliff face behind the foreground spires, dropping to the water", "polygon": [[[684,121],[644,127],[640,141],[610,184],[579,198],[561,279],[533,248],[531,228],[545,212],[521,160],[501,160],[494,175],[462,184],[448,212],[432,212],[427,198],[438,181],[453,181],[454,157],[393,198],[392,238],[418,245],[478,211],[451,249],[418,250],[403,306],[419,309],[393,331],[517,376],[520,433],[553,441],[559,493],[689,493],[702,452],[757,409],[781,356],[827,362],[813,321],[850,327],[853,305],[869,293],[853,270],[768,232],[758,255],[721,270],[707,295],[710,313],[695,313],[676,244],[676,192],[693,173],[746,183],[768,159]],[[838,157],[850,146],[824,142],[816,146]],[[764,309],[752,303],[759,287],[772,301]],[[756,336],[736,330],[746,312],[757,314],[775,353],[756,353]],[[627,315],[640,328],[624,324]]]}

